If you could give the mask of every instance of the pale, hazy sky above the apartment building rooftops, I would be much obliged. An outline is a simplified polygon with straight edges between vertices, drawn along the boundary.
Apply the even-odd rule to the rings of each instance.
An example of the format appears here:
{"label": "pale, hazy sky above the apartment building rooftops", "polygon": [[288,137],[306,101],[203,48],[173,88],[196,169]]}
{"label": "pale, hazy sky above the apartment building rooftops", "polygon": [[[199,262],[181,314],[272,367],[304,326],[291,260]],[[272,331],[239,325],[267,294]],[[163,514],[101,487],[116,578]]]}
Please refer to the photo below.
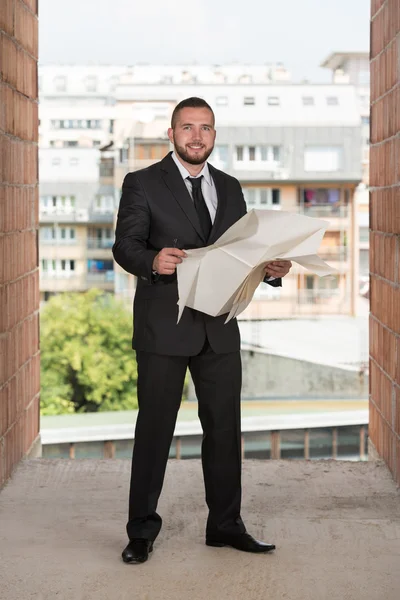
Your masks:
{"label": "pale, hazy sky above the apartment building rooftops", "polygon": [[329,82],[334,51],[367,52],[370,0],[40,0],[41,64],[265,64]]}

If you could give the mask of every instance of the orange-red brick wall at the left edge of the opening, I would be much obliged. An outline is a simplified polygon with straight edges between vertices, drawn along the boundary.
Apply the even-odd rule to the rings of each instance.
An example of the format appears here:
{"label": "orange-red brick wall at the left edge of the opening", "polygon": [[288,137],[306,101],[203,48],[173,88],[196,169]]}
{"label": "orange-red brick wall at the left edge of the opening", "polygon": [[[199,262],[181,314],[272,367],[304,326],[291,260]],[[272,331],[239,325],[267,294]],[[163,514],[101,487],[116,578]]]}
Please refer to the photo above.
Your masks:
{"label": "orange-red brick wall at the left edge of the opening", "polygon": [[0,2],[0,486],[39,433],[37,0]]}

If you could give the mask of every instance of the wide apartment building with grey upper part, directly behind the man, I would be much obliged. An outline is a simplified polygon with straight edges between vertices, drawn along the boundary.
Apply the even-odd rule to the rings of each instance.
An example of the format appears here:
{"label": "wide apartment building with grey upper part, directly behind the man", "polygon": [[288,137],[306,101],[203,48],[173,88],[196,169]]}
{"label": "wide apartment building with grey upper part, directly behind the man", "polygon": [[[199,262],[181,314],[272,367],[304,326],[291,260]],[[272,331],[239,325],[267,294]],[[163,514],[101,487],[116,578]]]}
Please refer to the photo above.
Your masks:
{"label": "wide apartment building with grey upper part, directly behind the man", "polygon": [[[124,174],[169,149],[174,106],[204,97],[216,114],[210,162],[241,182],[248,209],[297,211],[328,222],[321,256],[337,269],[319,278],[294,266],[282,288],[261,285],[242,318],[354,314],[358,239],[354,193],[361,180],[361,127],[353,85],[278,83],[159,85],[121,78],[116,89],[116,189]],[[116,293],[134,278],[116,267]],[[274,302],[275,300],[275,302]]]}

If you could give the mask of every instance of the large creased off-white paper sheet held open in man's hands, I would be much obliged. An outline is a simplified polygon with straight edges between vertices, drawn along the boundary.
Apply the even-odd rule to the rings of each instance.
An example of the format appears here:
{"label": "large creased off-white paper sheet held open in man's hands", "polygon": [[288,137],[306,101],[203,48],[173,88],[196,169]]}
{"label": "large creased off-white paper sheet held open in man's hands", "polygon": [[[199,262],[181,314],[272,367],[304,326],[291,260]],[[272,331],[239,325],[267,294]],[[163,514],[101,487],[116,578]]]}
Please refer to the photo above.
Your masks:
{"label": "large creased off-white paper sheet held open in man's hands", "polygon": [[329,222],[286,211],[252,209],[211,246],[185,250],[177,267],[178,323],[185,306],[225,323],[250,304],[274,260],[297,262],[319,276],[336,273],[318,255]]}

